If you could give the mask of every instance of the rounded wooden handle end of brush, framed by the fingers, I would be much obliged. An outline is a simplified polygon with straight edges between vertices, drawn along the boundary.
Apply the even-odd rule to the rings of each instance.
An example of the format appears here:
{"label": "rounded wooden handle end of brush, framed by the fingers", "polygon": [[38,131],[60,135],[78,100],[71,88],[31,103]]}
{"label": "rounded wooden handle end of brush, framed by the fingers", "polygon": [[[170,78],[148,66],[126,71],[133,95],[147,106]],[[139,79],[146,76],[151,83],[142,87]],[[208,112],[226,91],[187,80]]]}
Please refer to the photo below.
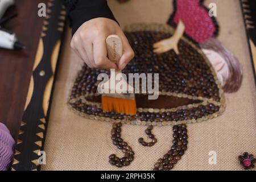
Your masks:
{"label": "rounded wooden handle end of brush, framed by the fingers", "polygon": [[108,50],[109,60],[117,64],[121,56],[123,55],[122,40],[118,35],[109,35],[106,38],[106,46]]}

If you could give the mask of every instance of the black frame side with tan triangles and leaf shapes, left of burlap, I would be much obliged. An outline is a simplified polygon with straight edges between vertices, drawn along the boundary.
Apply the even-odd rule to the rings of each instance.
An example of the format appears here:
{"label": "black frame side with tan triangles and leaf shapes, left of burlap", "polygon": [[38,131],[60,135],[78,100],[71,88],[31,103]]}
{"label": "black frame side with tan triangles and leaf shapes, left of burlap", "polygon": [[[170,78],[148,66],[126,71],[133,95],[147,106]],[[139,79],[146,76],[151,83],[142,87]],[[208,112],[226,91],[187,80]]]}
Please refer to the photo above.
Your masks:
{"label": "black frame side with tan triangles and leaf shapes, left of burlap", "polygon": [[[15,155],[11,166],[12,171],[40,170],[39,152],[43,151],[46,138],[49,105],[65,19],[65,6],[61,1],[49,0],[47,16],[43,22],[32,69],[23,119],[20,123],[19,135],[16,141]],[[49,48],[46,49],[46,47]],[[36,84],[41,84],[43,87],[36,88]],[[42,99],[42,102],[38,98]],[[31,104],[36,104],[40,109],[31,108]],[[31,117],[28,117],[28,115],[31,115]]]}

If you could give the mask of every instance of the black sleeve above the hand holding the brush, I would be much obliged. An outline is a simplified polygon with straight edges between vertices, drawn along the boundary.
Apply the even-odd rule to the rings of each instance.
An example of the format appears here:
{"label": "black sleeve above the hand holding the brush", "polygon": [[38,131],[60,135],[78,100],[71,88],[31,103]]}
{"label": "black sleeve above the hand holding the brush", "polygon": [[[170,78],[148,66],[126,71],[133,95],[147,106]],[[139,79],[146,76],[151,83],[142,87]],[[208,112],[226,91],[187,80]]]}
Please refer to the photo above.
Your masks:
{"label": "black sleeve above the hand holding the brush", "polygon": [[67,7],[68,17],[71,22],[72,34],[82,23],[93,18],[114,18],[112,11],[109,9],[106,0],[62,0]]}

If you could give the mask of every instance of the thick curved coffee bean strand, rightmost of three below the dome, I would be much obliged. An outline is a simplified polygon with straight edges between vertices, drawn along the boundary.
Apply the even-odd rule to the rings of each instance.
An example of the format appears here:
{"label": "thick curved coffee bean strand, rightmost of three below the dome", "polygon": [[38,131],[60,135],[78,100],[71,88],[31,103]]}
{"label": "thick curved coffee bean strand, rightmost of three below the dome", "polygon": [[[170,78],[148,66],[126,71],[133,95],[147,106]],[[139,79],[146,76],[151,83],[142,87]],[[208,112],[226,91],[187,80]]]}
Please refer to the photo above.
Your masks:
{"label": "thick curved coffee bean strand, rightmost of three below the dome", "polygon": [[163,156],[163,158],[158,159],[155,163],[154,171],[168,171],[174,168],[174,165],[181,156],[184,155],[184,151],[187,150],[188,135],[186,125],[175,125],[173,127],[174,140],[171,150]]}

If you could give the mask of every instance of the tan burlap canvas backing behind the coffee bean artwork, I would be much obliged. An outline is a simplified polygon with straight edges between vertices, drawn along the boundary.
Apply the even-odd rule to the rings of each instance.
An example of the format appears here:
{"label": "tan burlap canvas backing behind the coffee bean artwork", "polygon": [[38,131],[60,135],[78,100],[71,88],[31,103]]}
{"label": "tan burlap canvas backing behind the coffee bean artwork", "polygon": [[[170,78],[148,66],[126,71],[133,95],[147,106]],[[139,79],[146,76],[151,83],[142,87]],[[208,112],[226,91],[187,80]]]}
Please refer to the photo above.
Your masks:
{"label": "tan burlap canvas backing behind the coffee bean artwork", "polygon": [[[240,170],[237,157],[243,151],[256,152],[256,92],[245,28],[238,0],[211,0],[217,4],[220,23],[218,39],[240,60],[244,77],[242,88],[226,94],[226,111],[220,117],[188,125],[188,150],[175,170]],[[109,5],[122,26],[131,23],[165,23],[172,11],[169,0],[131,0]],[[116,170],[110,166],[110,154],[122,155],[112,144],[108,122],[85,119],[72,113],[66,104],[76,73],[82,61],[69,48],[67,31],[56,78],[51,115],[44,150],[47,164],[43,170]],[[138,143],[144,136],[144,126],[124,125],[122,138],[135,151],[134,162],[121,170],[151,170],[156,160],[166,154],[172,141],[172,126],[154,127],[158,143],[143,147]],[[209,152],[217,154],[217,164],[209,164]],[[118,168],[119,170],[119,168]]]}

